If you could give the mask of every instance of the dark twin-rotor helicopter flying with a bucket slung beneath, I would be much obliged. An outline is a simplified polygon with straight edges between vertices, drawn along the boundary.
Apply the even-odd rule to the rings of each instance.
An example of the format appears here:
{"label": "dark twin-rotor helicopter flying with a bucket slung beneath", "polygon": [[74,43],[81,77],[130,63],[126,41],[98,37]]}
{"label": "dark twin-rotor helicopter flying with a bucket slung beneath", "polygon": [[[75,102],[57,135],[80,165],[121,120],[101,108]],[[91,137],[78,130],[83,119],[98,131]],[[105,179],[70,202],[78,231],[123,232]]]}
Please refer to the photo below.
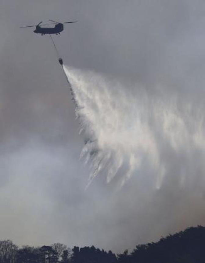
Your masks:
{"label": "dark twin-rotor helicopter flying with a bucket slung beneath", "polygon": [[[40,23],[38,23],[37,25],[33,25],[33,26],[23,26],[20,28],[32,28],[32,27],[36,27],[36,29],[34,30],[34,33],[37,34],[41,34],[41,35],[46,35],[46,34],[56,34],[59,35],[60,32],[63,31],[63,24],[70,24],[70,23],[77,23],[78,21],[71,21],[71,22],[56,22],[54,20],[50,20],[49,21],[53,22],[55,24],[55,27],[50,28],[50,27],[41,27],[41,23],[43,23],[43,21],[41,21]],[[48,26],[47,24],[42,25],[42,26]]]}

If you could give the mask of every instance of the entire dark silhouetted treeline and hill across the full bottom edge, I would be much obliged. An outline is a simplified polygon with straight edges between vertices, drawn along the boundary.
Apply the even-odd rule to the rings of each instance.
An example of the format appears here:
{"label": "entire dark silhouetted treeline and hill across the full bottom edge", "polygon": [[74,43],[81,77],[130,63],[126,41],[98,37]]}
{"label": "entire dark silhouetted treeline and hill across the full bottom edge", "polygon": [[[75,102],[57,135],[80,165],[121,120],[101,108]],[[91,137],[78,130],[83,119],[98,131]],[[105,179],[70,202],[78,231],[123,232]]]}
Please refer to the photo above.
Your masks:
{"label": "entire dark silhouetted treeline and hill across the full bottom edge", "polygon": [[[117,240],[116,240],[117,242]],[[18,248],[11,240],[0,241],[0,263],[205,263],[205,227],[191,227],[156,243],[137,245],[128,253],[113,254],[94,246],[73,249],[50,246]]]}

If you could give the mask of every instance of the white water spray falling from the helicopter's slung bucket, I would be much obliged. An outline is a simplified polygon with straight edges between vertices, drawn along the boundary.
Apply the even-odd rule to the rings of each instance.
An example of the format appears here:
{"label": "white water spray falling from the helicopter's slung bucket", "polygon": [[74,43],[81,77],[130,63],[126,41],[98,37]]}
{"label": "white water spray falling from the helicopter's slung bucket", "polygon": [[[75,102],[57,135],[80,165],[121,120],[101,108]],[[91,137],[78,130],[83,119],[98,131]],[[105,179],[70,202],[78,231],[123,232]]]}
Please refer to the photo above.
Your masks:
{"label": "white water spray falling from the helicopter's slung bucket", "polygon": [[[200,98],[158,85],[123,83],[96,72],[64,67],[90,162],[89,183],[100,173],[119,187],[149,169],[153,187],[166,178],[179,187],[204,183],[204,104]],[[121,176],[123,175],[123,176]]]}

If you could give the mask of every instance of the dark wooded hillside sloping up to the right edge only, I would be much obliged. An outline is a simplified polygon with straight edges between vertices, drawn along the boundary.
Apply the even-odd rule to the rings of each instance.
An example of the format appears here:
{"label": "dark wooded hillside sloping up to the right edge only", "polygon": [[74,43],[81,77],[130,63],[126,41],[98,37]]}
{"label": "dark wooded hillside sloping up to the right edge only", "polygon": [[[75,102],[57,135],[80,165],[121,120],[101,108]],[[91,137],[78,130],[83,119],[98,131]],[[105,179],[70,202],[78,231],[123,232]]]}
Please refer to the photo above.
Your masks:
{"label": "dark wooded hillside sloping up to the right edge only", "polygon": [[204,263],[205,227],[191,227],[183,232],[168,235],[156,243],[138,245],[128,255],[118,255],[120,263]]}

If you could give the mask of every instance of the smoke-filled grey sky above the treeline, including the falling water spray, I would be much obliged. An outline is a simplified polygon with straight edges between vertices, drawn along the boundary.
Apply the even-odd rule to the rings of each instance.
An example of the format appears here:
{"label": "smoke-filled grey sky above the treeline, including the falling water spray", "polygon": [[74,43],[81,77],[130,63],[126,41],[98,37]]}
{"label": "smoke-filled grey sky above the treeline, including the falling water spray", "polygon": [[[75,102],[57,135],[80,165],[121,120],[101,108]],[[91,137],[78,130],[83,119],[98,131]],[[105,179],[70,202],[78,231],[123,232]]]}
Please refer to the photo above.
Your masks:
{"label": "smoke-filled grey sky above the treeline, including the falling water spray", "polygon": [[[204,224],[204,13],[200,0],[2,0],[2,240],[119,253]],[[79,21],[53,36],[78,109],[49,36],[19,28],[49,19]]]}

